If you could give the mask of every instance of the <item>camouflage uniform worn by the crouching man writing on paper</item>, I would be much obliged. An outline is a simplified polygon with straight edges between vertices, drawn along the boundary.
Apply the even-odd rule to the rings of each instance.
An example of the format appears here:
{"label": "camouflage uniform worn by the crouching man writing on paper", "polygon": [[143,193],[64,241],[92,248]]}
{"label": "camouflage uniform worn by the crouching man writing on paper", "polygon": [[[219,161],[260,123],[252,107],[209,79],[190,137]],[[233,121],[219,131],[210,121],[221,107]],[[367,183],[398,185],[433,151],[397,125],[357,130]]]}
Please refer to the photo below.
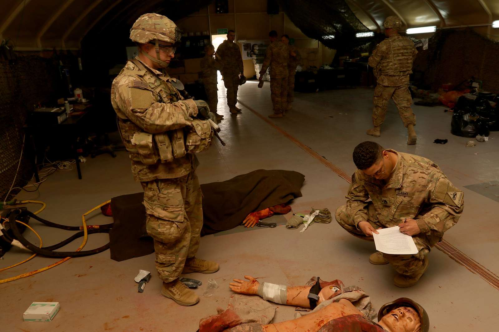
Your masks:
{"label": "camouflage uniform worn by the crouching man writing on paper", "polygon": [[[350,234],[373,240],[360,230],[360,221],[368,221],[376,229],[397,226],[406,218],[415,219],[421,229],[421,233],[413,236],[419,252],[415,255],[383,254],[398,273],[414,276],[422,270],[426,255],[435,243],[458,222],[463,213],[464,194],[431,160],[387,151],[398,155],[388,183],[356,170],[346,205],[336,210],[336,221]],[[368,199],[372,202],[367,202]]]}

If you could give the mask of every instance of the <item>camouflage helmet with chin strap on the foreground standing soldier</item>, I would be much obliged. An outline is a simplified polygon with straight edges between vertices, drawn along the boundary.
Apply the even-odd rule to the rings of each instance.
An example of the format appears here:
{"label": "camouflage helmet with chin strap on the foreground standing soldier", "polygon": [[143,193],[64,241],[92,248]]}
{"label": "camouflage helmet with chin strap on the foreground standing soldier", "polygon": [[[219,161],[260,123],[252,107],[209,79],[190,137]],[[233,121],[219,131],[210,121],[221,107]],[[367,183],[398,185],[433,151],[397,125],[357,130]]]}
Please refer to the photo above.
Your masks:
{"label": "camouflage helmet with chin strap on the foreground standing soldier", "polygon": [[159,42],[174,44],[176,47],[180,44],[180,38],[180,30],[177,25],[168,17],[156,13],[141,15],[130,29],[130,39],[132,41],[139,44],[155,42],[156,59],[143,51],[141,52],[162,67],[167,67],[168,63],[160,60]]}

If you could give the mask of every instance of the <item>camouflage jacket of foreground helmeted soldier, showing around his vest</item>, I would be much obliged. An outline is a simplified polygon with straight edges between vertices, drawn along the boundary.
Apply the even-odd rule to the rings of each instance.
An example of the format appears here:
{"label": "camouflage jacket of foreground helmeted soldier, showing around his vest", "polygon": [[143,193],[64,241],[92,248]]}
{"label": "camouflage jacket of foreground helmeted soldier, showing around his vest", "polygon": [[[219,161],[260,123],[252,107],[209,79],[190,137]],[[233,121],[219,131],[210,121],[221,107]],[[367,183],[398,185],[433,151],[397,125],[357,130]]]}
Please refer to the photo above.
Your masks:
{"label": "camouflage jacket of foreground helmeted soldier, showing around his vest", "polygon": [[[140,61],[138,57],[135,59]],[[140,62],[147,70],[141,71],[132,61],[128,61],[111,86],[111,104],[119,120],[131,121],[151,134],[190,125],[190,117],[198,113],[196,103],[191,99],[183,100],[166,72]],[[189,174],[197,162],[193,154],[152,165],[132,159],[132,173],[136,181],[178,178]]]}

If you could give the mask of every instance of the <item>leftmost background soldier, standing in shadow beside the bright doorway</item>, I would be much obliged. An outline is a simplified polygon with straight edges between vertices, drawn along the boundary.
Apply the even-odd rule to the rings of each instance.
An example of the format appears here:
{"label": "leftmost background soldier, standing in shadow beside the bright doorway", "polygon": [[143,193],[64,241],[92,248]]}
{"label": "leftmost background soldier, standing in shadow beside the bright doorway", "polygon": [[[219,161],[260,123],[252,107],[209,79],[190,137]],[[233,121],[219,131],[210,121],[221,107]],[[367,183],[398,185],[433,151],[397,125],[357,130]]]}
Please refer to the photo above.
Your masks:
{"label": "leftmost background soldier, standing in shadow beside the bright doorway", "polygon": [[217,120],[221,120],[224,115],[217,113],[217,70],[222,70],[222,64],[213,58],[213,55],[215,54],[215,47],[213,45],[206,45],[205,53],[205,57],[201,60],[203,84],[205,85],[205,92],[208,97],[210,111],[217,116]]}

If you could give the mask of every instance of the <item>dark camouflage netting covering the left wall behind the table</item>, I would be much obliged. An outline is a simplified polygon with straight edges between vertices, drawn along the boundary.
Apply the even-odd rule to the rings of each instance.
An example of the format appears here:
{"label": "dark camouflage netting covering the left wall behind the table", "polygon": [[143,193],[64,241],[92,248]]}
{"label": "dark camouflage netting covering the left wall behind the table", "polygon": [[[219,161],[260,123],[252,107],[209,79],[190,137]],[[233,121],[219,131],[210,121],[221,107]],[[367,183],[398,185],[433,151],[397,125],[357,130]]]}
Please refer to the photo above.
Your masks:
{"label": "dark camouflage netting covering the left wall behind the table", "polygon": [[[22,126],[33,105],[53,98],[60,91],[57,63],[38,56],[0,60],[0,201],[7,194],[17,170],[22,147]],[[22,187],[33,175],[31,141],[25,138],[14,187]],[[12,190],[16,194],[19,190]]]}

